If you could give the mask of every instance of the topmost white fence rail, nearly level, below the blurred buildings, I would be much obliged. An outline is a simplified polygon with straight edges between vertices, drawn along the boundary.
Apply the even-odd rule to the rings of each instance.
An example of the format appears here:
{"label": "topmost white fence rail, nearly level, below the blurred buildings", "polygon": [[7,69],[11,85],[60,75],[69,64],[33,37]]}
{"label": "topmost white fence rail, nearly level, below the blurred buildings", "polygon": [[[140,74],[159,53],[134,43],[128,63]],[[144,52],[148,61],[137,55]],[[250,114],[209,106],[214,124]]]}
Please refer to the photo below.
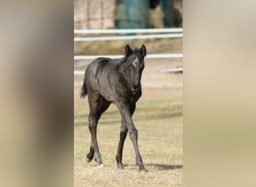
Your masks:
{"label": "topmost white fence rail, nearly level, below the blurred buildings", "polygon": [[94,30],[74,30],[74,34],[124,34],[124,33],[168,33],[183,32],[183,28],[152,28],[152,29],[94,29]]}

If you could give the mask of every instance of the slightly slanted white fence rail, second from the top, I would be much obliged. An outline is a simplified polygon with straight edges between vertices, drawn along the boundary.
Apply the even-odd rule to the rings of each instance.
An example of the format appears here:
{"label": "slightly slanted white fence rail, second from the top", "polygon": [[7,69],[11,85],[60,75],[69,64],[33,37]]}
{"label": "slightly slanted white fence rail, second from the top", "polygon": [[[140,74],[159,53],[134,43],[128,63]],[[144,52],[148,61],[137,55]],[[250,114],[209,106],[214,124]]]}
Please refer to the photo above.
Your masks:
{"label": "slightly slanted white fence rail, second from the top", "polygon": [[75,42],[83,41],[100,41],[100,40],[132,40],[132,39],[149,39],[149,38],[171,38],[183,37],[183,34],[150,34],[139,36],[114,36],[114,37],[75,37]]}

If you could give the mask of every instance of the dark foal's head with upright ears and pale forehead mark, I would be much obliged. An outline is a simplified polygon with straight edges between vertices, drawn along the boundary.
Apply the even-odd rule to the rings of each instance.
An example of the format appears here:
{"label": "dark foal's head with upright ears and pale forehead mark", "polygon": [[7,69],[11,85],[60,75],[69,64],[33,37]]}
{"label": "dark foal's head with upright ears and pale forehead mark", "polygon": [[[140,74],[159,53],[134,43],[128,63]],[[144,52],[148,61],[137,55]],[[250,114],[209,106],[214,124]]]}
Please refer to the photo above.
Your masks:
{"label": "dark foal's head with upright ears and pale forehead mark", "polygon": [[141,74],[144,69],[144,56],[147,55],[146,47],[141,46],[141,49],[131,49],[129,45],[125,47],[124,55],[127,58],[126,66],[129,72],[132,85],[137,88],[141,82]]}

